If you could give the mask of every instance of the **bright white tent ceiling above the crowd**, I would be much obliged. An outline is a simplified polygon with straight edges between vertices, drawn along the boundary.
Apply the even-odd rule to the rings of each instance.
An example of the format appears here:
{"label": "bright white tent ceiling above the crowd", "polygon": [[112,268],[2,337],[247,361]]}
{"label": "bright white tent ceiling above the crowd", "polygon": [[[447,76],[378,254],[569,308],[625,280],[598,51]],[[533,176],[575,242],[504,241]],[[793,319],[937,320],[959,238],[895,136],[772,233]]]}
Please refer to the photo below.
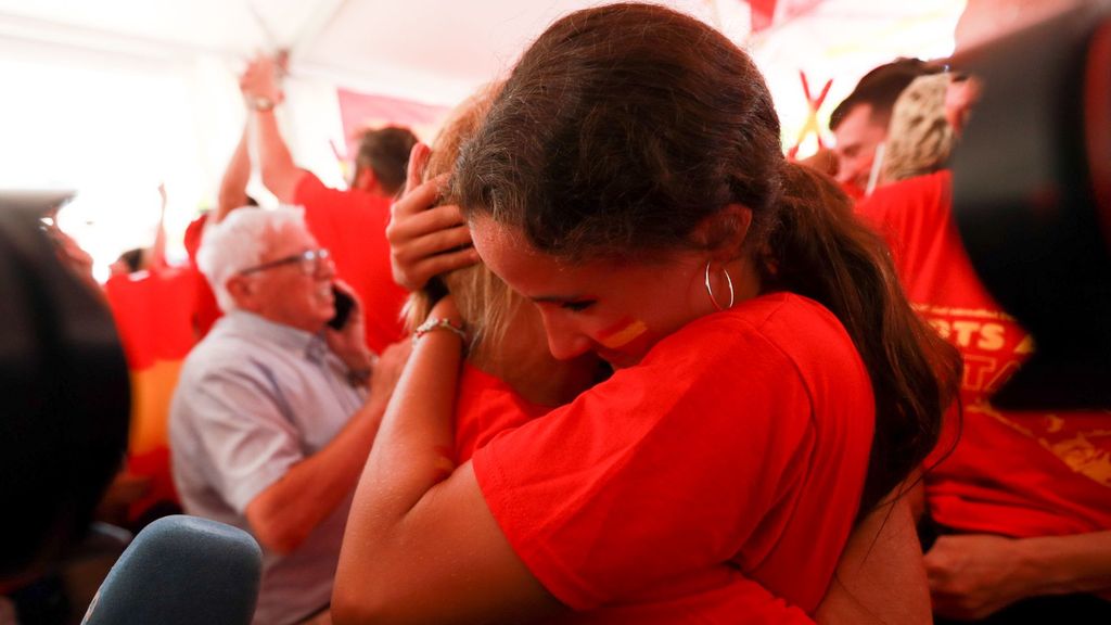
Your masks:
{"label": "bright white tent ceiling above the crowd", "polygon": [[[152,240],[160,181],[170,241],[211,206],[244,118],[236,77],[256,51],[291,50],[287,139],[299,165],[342,183],[337,88],[450,107],[508,70],[551,21],[598,3],[0,0],[0,187],[78,189],[62,217],[107,268]],[[828,115],[875,65],[947,56],[965,2],[778,0],[777,20],[754,36],[741,0],[663,3],[751,51],[790,145],[809,113],[800,71],[815,92],[834,79]]]}

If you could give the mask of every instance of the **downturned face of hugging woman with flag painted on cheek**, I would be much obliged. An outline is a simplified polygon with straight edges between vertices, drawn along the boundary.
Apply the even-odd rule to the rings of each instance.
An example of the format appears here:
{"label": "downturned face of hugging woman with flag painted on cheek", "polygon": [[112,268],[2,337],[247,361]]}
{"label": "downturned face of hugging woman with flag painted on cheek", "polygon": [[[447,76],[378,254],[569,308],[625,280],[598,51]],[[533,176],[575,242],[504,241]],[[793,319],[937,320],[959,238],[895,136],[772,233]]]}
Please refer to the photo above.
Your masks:
{"label": "downturned face of hugging woman with flag painted on cheek", "polygon": [[537,305],[548,347],[561,360],[594,351],[614,368],[629,367],[661,338],[713,311],[703,286],[705,254],[572,266],[488,217],[473,221],[471,231],[487,266]]}

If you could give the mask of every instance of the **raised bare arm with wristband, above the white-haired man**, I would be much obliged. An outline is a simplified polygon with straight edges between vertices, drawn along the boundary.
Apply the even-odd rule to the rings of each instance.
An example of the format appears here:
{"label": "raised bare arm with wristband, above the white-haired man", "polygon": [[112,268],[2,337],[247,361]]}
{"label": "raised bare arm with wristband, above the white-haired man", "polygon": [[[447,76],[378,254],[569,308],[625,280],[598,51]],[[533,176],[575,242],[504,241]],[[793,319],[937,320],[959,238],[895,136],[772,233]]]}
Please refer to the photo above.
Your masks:
{"label": "raised bare arm with wristband, above the white-haired man", "polygon": [[293,162],[274,117],[274,107],[281,103],[283,93],[278,85],[273,59],[259,56],[251,61],[239,79],[239,89],[250,111],[262,183],[280,201],[293,204],[293,194],[307,172]]}

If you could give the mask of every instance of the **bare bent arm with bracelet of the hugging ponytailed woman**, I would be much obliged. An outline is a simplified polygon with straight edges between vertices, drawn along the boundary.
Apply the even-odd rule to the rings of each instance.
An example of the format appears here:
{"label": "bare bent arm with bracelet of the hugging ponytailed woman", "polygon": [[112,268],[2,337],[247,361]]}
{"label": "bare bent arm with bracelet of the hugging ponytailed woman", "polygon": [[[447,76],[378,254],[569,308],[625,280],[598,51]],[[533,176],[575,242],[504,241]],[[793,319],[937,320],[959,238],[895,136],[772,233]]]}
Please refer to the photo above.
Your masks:
{"label": "bare bent arm with bracelet of the hugging ponytailed woman", "polygon": [[[458,320],[450,298],[433,309]],[[452,460],[462,340],[419,339],[356,490],[332,594],[338,624],[533,621],[560,608],[517,556],[470,463]]]}

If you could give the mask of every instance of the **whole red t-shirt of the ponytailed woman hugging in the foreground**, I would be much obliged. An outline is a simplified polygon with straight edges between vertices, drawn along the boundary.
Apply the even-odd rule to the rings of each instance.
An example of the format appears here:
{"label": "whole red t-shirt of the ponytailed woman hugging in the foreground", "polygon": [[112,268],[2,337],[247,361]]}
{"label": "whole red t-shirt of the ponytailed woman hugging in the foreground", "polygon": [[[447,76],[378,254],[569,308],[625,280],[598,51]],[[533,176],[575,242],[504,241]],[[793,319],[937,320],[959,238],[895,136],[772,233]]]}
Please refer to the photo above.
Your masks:
{"label": "whole red t-shirt of the ponytailed woman hugging in the foreground", "polygon": [[873,419],[841,325],[777,294],[689,324],[472,462],[532,574],[592,611],[572,621],[734,623],[761,601],[784,607],[760,586],[817,607],[857,515]]}

